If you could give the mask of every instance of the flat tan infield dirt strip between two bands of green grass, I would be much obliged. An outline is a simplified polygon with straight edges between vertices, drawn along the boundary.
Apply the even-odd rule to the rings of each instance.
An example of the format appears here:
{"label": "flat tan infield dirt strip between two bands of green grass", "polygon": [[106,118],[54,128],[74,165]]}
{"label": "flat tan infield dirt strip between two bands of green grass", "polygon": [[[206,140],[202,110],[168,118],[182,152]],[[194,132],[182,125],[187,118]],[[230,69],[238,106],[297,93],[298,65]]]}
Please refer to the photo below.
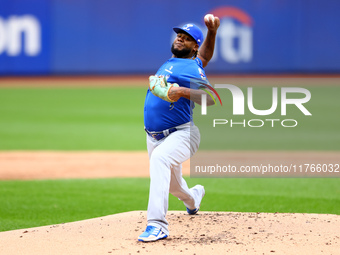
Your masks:
{"label": "flat tan infield dirt strip between two bands of green grass", "polygon": [[[223,152],[223,156],[235,165],[245,162],[256,165],[268,160],[301,164],[338,162],[340,152],[228,151]],[[4,151],[0,152],[0,166],[0,180],[149,177],[145,151]],[[189,161],[184,162],[182,172],[190,175]]]}

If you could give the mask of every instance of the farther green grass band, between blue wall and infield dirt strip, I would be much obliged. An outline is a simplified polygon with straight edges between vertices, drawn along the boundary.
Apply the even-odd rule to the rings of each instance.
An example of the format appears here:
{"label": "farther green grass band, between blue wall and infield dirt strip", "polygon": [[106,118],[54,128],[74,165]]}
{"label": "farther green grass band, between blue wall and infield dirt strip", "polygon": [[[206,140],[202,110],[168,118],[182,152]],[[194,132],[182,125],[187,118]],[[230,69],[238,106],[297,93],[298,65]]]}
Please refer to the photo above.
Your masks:
{"label": "farther green grass band, between blue wall and infield dirt strip", "polygon": [[[297,119],[296,128],[218,126],[215,140],[228,137],[229,150],[340,150],[338,95],[340,87],[310,87],[312,99],[306,104],[312,116],[304,116],[288,106],[289,116],[279,109],[270,118]],[[145,88],[0,88],[0,150],[146,150],[143,124]],[[258,109],[271,105],[270,88],[255,88]],[[223,102],[231,109],[232,100]],[[220,114],[220,106],[209,110],[213,118],[231,119]],[[200,125],[200,107],[194,114]],[[266,119],[266,116],[260,116]],[[258,119],[246,115],[240,119]],[[211,121],[206,122],[211,125]],[[211,132],[202,136],[201,146],[214,142]],[[216,148],[216,143],[213,145]]]}

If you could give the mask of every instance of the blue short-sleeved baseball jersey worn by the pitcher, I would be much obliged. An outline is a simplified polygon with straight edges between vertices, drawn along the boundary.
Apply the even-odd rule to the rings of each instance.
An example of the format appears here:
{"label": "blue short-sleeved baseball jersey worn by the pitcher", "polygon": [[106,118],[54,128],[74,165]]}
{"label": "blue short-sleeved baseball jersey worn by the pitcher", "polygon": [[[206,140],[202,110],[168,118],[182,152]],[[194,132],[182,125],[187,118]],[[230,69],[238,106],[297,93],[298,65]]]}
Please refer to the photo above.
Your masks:
{"label": "blue short-sleeved baseball jersey worn by the pitcher", "polygon": [[[180,87],[190,88],[190,81],[207,83],[202,61],[196,59],[171,58],[157,71],[156,75],[166,77],[168,83],[177,83]],[[195,83],[196,84],[196,83]],[[191,84],[191,88],[198,89]],[[144,104],[144,125],[149,131],[162,131],[192,121],[193,102],[181,97],[177,102],[169,103],[156,97],[148,89]]]}

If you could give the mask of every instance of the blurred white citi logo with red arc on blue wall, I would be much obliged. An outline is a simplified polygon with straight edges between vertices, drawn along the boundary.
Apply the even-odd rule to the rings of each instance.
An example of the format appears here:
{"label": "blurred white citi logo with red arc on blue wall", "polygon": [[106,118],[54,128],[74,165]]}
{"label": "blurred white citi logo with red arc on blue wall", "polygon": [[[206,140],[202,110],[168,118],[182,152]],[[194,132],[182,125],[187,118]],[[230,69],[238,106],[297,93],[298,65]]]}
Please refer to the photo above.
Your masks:
{"label": "blurred white citi logo with red arc on blue wall", "polygon": [[248,63],[253,58],[253,19],[236,7],[218,7],[209,13],[220,18],[212,61],[222,58],[230,64]]}

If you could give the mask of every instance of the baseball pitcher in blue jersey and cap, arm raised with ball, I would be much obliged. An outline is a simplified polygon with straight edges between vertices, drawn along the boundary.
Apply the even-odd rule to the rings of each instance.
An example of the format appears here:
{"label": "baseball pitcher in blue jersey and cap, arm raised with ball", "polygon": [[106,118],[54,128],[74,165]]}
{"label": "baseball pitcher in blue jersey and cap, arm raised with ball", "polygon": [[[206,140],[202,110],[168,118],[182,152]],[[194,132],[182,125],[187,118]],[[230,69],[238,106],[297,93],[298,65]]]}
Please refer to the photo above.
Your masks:
{"label": "baseball pitcher in blue jersey and cap, arm raised with ball", "polygon": [[[198,149],[200,133],[192,119],[194,103],[201,103],[203,90],[192,81],[207,82],[204,67],[213,56],[218,17],[205,16],[206,39],[194,24],[174,27],[177,33],[172,58],[149,77],[144,105],[144,125],[150,160],[150,191],[147,227],[139,241],[157,241],[169,236],[166,214],[169,192],[183,201],[189,214],[196,214],[205,194],[204,187],[188,188],[182,177],[182,163]],[[191,84],[191,86],[190,86]],[[198,88],[198,86],[197,86]],[[214,99],[207,96],[207,105]]]}

